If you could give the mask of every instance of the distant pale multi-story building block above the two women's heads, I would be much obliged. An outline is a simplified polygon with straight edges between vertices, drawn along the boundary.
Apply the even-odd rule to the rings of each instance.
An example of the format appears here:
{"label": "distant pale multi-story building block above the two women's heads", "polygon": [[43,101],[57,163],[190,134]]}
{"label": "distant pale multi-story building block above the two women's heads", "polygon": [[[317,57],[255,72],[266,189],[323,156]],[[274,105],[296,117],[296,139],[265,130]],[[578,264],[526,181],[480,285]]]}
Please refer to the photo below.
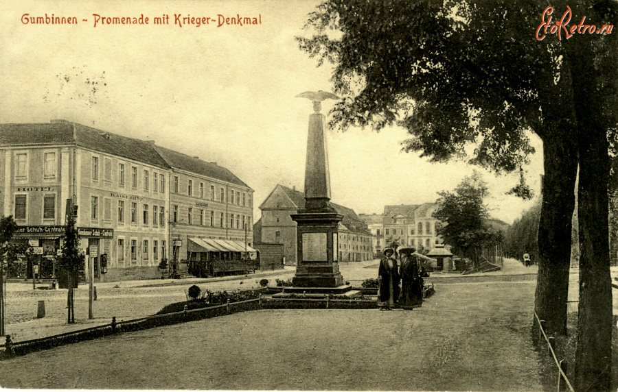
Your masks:
{"label": "distant pale multi-story building block above the two women's heads", "polygon": [[[435,244],[442,243],[442,239],[436,234],[439,220],[433,217],[436,208],[435,203],[384,206],[382,215],[361,214],[361,219],[372,225],[372,232],[375,230],[376,236],[378,232],[382,233],[376,241],[384,241],[384,246],[396,242],[421,251],[429,251]],[[381,226],[378,217],[382,217]]]}

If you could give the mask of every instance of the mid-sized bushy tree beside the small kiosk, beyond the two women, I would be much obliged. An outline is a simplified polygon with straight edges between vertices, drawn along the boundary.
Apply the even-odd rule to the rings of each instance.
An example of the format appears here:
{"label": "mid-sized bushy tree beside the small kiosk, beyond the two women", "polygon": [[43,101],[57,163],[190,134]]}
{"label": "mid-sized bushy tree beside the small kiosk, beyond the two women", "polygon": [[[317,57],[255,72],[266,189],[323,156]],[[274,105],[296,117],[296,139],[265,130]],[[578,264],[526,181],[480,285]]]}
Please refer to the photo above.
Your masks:
{"label": "mid-sized bushy tree beside the small kiosk, beyond the two women", "polygon": [[489,212],[484,200],[488,186],[478,171],[464,177],[453,192],[443,191],[437,200],[438,208],[433,217],[443,224],[436,234],[451,245],[452,252],[464,256],[479,267],[479,256],[483,245],[494,245],[501,234],[487,225]]}

